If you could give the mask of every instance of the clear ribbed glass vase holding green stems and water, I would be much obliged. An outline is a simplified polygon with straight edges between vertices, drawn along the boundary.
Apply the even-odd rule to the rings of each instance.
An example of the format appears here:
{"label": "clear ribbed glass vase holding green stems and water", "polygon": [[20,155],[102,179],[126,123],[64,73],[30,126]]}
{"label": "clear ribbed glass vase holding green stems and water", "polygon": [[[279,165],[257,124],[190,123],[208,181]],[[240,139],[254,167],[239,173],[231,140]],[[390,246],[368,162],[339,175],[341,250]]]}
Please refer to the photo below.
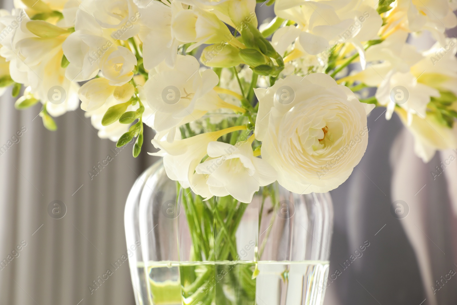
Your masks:
{"label": "clear ribbed glass vase holding green stems and water", "polygon": [[202,201],[162,163],[141,175],[125,209],[137,305],[322,305],[333,206],[273,183],[251,203]]}

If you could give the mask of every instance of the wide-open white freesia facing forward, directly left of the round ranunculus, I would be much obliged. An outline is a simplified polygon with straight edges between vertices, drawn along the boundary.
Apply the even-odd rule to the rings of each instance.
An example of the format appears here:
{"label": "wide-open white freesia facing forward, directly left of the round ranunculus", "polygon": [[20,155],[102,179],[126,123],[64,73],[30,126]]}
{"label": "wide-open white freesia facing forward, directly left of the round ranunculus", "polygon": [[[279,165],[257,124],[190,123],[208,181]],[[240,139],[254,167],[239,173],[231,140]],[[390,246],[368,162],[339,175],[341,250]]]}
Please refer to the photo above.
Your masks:
{"label": "wide-open white freesia facing forward, directly left of the round ranunculus", "polygon": [[223,102],[214,86],[218,75],[213,70],[199,71],[200,64],[191,55],[178,55],[173,69],[165,63],[150,72],[144,85],[144,97],[154,111],[154,129],[160,139],[168,134],[175,139],[176,127],[201,118],[207,111],[235,106]]}

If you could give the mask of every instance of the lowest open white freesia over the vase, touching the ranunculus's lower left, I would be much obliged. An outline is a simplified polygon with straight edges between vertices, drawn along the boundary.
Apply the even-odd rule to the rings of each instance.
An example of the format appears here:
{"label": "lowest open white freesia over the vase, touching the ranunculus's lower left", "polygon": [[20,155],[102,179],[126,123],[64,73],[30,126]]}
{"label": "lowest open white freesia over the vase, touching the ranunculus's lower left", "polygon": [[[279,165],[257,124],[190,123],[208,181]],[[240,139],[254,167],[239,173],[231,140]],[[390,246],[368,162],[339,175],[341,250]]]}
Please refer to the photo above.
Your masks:
{"label": "lowest open white freesia over the vase, touching the ranunculus's lower left", "polygon": [[230,195],[240,202],[250,203],[260,187],[276,181],[275,169],[254,156],[251,141],[237,146],[213,141],[208,144],[207,155],[209,158],[195,169],[206,180],[195,190],[199,193],[200,188],[207,187],[211,195],[204,196],[206,199],[213,195]]}

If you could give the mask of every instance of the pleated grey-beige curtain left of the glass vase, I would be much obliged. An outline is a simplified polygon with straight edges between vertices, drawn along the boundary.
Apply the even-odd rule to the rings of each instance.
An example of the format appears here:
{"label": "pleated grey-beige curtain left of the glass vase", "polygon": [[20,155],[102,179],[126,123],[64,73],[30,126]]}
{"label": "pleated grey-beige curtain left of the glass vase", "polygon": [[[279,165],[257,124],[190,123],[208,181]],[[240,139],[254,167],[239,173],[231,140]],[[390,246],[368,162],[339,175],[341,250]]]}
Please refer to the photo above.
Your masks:
{"label": "pleated grey-beige curtain left of the glass vase", "polygon": [[[0,304],[134,304],[128,262],[110,264],[127,251],[125,200],[153,162],[152,145],[145,141],[137,159],[131,145],[115,151],[80,109],[50,132],[37,117],[41,106],[18,111],[10,92],[0,98]],[[107,155],[113,160],[99,166]],[[107,269],[114,274],[89,289]]]}

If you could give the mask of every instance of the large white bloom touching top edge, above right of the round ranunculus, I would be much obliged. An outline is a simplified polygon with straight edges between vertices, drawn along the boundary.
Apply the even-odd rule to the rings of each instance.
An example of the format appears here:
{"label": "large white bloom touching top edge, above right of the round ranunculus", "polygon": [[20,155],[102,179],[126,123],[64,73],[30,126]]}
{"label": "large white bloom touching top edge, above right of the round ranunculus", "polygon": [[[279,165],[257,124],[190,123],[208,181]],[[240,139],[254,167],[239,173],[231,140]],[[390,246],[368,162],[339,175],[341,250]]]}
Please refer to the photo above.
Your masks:
{"label": "large white bloom touching top edge, above right of the round ranunculus", "polygon": [[[349,2],[349,3],[348,3]],[[276,50],[283,54],[295,41],[298,55],[317,55],[338,43],[352,43],[361,54],[365,68],[362,42],[376,39],[382,19],[372,1],[293,1],[277,0],[275,13],[297,22],[297,26],[282,28],[273,35]]]}

